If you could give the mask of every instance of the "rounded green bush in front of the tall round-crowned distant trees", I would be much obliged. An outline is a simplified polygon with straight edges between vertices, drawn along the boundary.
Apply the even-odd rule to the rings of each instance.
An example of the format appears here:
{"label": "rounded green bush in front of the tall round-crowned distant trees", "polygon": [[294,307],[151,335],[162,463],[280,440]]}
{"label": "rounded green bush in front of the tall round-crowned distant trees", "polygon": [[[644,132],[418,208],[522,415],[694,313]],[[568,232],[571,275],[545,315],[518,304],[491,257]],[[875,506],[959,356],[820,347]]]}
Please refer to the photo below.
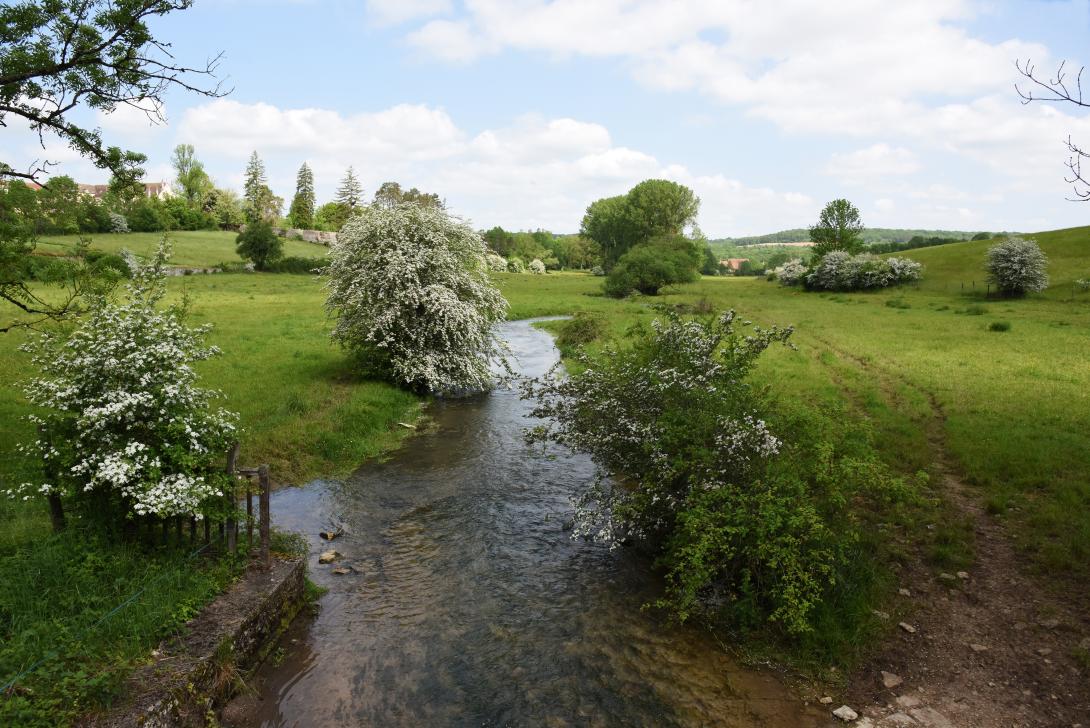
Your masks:
{"label": "rounded green bush in front of the tall round-crowned distant trees", "polygon": [[633,291],[657,295],[667,286],[699,280],[701,260],[701,251],[688,238],[659,238],[620,256],[606,278],[604,290],[615,299]]}

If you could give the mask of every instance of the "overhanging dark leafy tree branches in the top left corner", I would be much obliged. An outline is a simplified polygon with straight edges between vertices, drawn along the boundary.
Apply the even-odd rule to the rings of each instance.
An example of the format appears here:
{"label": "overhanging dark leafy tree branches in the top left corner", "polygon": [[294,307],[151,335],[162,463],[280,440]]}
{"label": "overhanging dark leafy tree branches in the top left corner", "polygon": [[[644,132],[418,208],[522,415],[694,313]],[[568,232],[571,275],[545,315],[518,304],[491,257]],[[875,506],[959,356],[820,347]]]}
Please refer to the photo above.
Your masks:
{"label": "overhanging dark leafy tree branches in the top left corner", "polygon": [[[146,157],[108,146],[99,130],[81,125],[85,117],[78,112],[110,113],[129,106],[153,122],[162,122],[162,98],[172,87],[222,96],[219,85],[198,85],[202,77],[214,76],[220,56],[203,68],[179,63],[170,44],[148,27],[149,22],[191,4],[192,0],[24,0],[0,5],[0,126],[9,125],[11,117],[20,118],[44,148],[52,135],[100,169],[140,179]],[[15,170],[0,160],[0,181],[36,180],[53,166],[41,160]],[[33,250],[33,239],[0,236],[0,260],[25,259]],[[78,299],[71,295],[50,303],[33,294],[26,279],[12,277],[26,270],[24,263],[0,265],[0,299],[33,320],[60,318],[80,308]]]}

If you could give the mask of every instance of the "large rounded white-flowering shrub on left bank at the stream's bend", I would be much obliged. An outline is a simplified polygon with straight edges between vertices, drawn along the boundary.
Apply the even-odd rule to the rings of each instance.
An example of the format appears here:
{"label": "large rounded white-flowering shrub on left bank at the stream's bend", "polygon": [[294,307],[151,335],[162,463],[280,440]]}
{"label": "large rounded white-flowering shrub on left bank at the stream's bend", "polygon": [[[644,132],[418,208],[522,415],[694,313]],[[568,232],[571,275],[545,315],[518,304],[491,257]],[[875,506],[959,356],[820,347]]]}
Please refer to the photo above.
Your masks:
{"label": "large rounded white-flowering shrub on left bank at the stream's bend", "polygon": [[414,389],[487,387],[507,302],[485,253],[481,235],[439,208],[367,208],[341,228],[324,271],[334,340],[365,371]]}

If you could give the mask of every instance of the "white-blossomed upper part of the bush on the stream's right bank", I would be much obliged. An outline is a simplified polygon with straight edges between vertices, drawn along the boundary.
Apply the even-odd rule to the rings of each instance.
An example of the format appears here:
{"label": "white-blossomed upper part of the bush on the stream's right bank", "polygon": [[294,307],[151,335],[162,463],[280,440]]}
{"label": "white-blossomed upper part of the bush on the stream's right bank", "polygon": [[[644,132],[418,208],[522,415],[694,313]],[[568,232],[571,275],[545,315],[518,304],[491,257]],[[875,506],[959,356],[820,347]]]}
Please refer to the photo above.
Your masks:
{"label": "white-blossomed upper part of the bush on the stream's right bank", "polygon": [[615,546],[661,535],[690,494],[743,485],[780,450],[746,377],[791,329],[741,335],[734,312],[712,324],[665,315],[632,348],[584,356],[585,368],[571,376],[554,371],[523,386],[545,421],[529,439],[590,453],[598,465],[576,501],[576,536]]}

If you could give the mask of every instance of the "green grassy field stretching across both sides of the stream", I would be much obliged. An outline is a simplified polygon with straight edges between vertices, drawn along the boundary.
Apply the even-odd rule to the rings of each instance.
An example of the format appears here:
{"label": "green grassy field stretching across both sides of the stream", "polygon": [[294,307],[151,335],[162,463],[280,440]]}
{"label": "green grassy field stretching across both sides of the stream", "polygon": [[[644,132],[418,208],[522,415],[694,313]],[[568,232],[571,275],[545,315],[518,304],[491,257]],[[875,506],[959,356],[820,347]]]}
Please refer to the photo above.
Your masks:
{"label": "green grassy field stretching across both sides of the stream", "polygon": [[[876,293],[815,294],[763,279],[705,278],[654,299],[615,301],[601,293],[601,278],[586,274],[498,274],[496,280],[511,304],[510,318],[597,312],[618,338],[632,323],[650,320],[655,304],[736,308],[759,324],[795,326],[798,350],[771,350],[758,373],[784,408],[859,420],[884,458],[907,473],[935,474],[937,438],[974,497],[1009,523],[1027,562],[1075,584],[1085,597],[1090,294],[1075,293],[1071,281],[1090,276],[1090,229],[1036,238],[1052,259],[1054,286],[1025,300],[985,298],[981,266],[988,242],[903,253],[927,266],[924,280],[918,288]],[[237,259],[228,233],[174,239],[177,264]],[[155,240],[101,235],[94,246],[147,252]],[[52,241],[40,248],[48,252],[55,244],[60,250]],[[288,255],[322,253],[314,245],[286,243]],[[269,463],[277,481],[342,474],[395,446],[408,432],[397,423],[419,414],[419,398],[352,374],[329,342],[324,295],[313,277],[222,274],[175,278],[170,286],[172,294],[191,298],[194,323],[215,325],[211,342],[223,354],[201,365],[203,384],[223,390],[227,405],[242,414],[243,462]],[[996,323],[1009,324],[1008,330],[991,330]],[[17,351],[24,337],[0,338],[0,366],[14,373],[0,381],[0,487],[32,472],[11,447],[31,436],[19,393],[28,374],[27,356]],[[77,674],[102,665],[111,676],[122,674],[229,578],[214,567],[186,569],[178,554],[108,546],[88,551],[78,541],[43,538],[47,531],[44,506],[0,501],[0,574],[9,584],[0,599],[0,634],[27,629],[60,634],[9,642],[8,652],[0,650],[0,678],[77,635],[82,646],[71,669],[44,668],[32,683],[52,704],[66,701],[73,711],[108,699],[114,684],[113,678],[87,682]],[[940,521],[922,533],[930,568],[970,562],[972,543],[964,524]],[[52,578],[32,579],[32,573]],[[107,623],[84,636],[153,573],[168,577],[133,605],[137,616],[130,631]],[[73,584],[78,599],[70,598]],[[156,611],[156,604],[164,609]],[[861,598],[860,609],[863,604]],[[852,642],[858,638],[833,635],[857,653],[864,648]],[[114,643],[124,648],[111,653]]]}

